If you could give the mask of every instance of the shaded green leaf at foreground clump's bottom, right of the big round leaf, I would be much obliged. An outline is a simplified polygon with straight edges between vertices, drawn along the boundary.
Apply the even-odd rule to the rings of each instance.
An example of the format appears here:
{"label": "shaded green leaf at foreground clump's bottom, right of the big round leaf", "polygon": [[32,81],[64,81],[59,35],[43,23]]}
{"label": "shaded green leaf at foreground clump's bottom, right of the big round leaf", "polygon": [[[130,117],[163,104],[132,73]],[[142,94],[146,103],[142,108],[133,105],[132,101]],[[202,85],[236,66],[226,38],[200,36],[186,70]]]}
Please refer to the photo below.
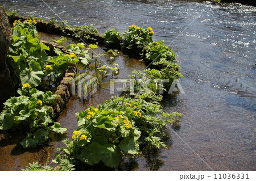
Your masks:
{"label": "shaded green leaf at foreground clump's bottom, right of the big round leaf", "polygon": [[120,151],[112,144],[108,144],[106,147],[105,154],[102,157],[102,162],[108,167],[117,166],[120,160]]}

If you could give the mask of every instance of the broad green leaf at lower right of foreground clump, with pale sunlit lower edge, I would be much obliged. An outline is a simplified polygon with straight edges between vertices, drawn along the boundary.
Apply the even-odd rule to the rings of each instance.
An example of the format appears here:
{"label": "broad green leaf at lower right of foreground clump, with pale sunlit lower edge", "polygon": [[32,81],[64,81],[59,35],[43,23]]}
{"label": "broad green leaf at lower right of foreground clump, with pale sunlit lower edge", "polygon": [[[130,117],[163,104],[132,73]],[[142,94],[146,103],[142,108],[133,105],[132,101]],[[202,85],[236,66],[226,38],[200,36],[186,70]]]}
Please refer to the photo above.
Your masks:
{"label": "broad green leaf at lower right of foreground clump, with pale sunlit lower edge", "polygon": [[128,154],[138,154],[139,153],[137,144],[135,144],[133,137],[126,137],[125,139],[123,139],[119,144],[119,148]]}

